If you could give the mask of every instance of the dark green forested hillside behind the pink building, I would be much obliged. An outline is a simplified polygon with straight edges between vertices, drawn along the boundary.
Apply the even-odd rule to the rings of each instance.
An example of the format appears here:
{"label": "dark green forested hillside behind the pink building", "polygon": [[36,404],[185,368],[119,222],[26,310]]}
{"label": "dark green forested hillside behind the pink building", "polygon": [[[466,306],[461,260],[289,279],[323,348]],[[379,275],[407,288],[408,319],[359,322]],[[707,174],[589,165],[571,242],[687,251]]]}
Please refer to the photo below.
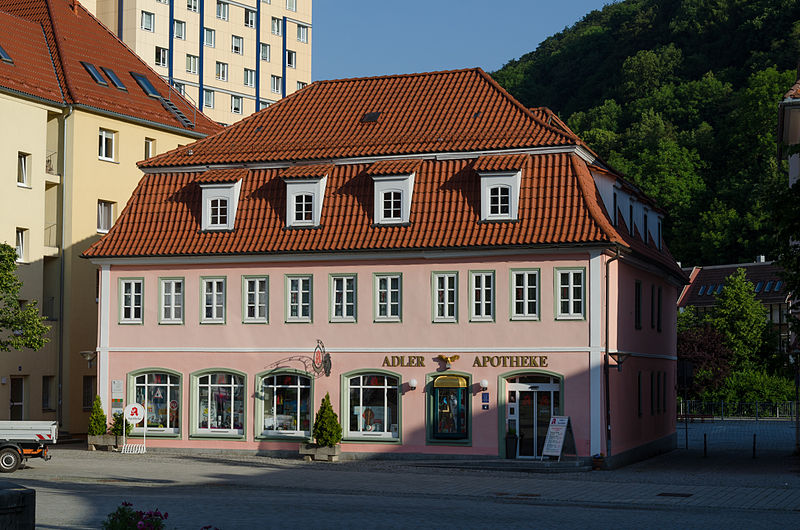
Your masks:
{"label": "dark green forested hillside behind the pink building", "polygon": [[655,198],[678,260],[712,265],[774,256],[777,105],[798,60],[797,0],[625,0],[492,75]]}

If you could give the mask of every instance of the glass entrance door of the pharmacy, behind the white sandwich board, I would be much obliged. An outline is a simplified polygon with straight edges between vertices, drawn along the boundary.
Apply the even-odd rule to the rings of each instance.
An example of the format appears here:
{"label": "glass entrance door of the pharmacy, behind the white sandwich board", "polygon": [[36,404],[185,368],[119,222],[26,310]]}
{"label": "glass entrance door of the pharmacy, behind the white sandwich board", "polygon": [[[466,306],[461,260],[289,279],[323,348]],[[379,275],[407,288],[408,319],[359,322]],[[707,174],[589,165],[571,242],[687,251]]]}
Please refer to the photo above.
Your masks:
{"label": "glass entrance door of the pharmacy, behind the white sandwich board", "polygon": [[550,417],[561,413],[561,385],[554,381],[558,380],[550,376],[526,376],[507,383],[507,426],[519,437],[517,458],[542,454]]}

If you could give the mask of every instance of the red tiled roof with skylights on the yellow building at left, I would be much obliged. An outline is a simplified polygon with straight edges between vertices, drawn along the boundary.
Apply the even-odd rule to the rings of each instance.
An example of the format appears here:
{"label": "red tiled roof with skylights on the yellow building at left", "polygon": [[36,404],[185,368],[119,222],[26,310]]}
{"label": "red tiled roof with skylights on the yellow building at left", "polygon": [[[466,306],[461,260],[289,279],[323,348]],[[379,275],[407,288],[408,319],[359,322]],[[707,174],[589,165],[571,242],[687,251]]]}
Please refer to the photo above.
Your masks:
{"label": "red tiled roof with skylights on the yellow building at left", "polygon": [[[45,77],[55,77],[60,85],[56,96],[51,89],[49,94],[35,94],[61,104],[83,105],[100,111],[113,112],[130,118],[147,120],[159,125],[183,129],[201,135],[212,134],[221,127],[196,110],[183,97],[178,95],[147,64],[120,41],[111,31],[94,18],[80,4],[72,8],[71,0],[0,0],[0,12],[15,15],[30,23],[18,25],[11,32],[0,32],[0,45],[12,47],[12,41],[27,39],[24,33],[33,32],[38,36],[44,33],[47,46],[37,52],[38,55],[52,56],[51,72]],[[6,17],[8,15],[5,15]],[[3,36],[4,35],[4,36]],[[42,43],[40,43],[41,45]],[[98,69],[106,67],[113,70],[127,91],[114,87],[106,78],[108,86],[96,83],[81,64],[85,61]],[[35,70],[41,68],[37,62],[29,62],[27,57],[15,60],[18,76],[32,77]],[[147,96],[131,72],[145,76],[165,99],[170,99],[188,118],[194,127],[184,126],[170,111],[165,109],[157,98]],[[101,74],[106,77],[105,74]],[[16,89],[11,84],[0,86]],[[30,93],[30,92],[27,92]]]}

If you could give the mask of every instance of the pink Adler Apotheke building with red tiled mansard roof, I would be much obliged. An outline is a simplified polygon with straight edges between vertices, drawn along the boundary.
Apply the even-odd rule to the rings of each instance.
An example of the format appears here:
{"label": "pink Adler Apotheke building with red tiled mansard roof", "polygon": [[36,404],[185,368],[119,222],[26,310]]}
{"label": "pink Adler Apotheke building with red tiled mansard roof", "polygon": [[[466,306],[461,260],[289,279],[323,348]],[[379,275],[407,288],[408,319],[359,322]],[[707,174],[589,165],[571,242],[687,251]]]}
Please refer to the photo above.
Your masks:
{"label": "pink Adler Apotheke building with red tiled mansard roof", "polygon": [[296,454],[330,393],[351,457],[535,457],[553,415],[612,465],[674,447],[664,212],[483,71],[314,83],[140,167],[85,257],[148,446]]}

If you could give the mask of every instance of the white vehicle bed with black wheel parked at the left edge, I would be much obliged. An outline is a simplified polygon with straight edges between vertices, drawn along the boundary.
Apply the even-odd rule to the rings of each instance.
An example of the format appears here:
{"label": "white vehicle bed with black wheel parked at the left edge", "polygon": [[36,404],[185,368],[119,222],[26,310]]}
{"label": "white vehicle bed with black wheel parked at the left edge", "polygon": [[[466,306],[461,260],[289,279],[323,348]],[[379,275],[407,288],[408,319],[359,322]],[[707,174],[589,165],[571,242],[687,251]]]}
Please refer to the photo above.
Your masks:
{"label": "white vehicle bed with black wheel parked at the left edge", "polygon": [[13,473],[31,457],[50,460],[47,446],[57,438],[55,421],[0,421],[0,473]]}

